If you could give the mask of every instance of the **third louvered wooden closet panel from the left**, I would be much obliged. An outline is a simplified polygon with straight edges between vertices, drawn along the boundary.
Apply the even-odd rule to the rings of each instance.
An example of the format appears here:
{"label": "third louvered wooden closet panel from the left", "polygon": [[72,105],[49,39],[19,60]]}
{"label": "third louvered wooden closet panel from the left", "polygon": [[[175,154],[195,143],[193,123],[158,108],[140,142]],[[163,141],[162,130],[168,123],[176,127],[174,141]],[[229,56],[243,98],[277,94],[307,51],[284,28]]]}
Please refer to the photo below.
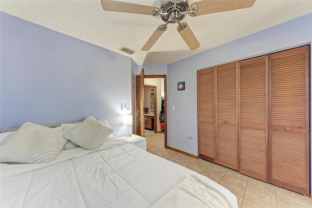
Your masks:
{"label": "third louvered wooden closet panel from the left", "polygon": [[268,181],[268,56],[240,62],[239,172]]}

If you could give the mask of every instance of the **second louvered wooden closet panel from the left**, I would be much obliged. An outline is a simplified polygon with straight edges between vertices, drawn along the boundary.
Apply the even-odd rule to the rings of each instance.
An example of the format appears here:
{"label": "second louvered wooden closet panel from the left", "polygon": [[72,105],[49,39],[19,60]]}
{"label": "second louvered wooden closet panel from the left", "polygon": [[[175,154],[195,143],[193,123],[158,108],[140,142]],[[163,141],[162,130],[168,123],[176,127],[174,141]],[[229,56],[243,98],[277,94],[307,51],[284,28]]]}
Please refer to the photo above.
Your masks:
{"label": "second louvered wooden closet panel from the left", "polygon": [[238,170],[236,64],[216,67],[216,163]]}

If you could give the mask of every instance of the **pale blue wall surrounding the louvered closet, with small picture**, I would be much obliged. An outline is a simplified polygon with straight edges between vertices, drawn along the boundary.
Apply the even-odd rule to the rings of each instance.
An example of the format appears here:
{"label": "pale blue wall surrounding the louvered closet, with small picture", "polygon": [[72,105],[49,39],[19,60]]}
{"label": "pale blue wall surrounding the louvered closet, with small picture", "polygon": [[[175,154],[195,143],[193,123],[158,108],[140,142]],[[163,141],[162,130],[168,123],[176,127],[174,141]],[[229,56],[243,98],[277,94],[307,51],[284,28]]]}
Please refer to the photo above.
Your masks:
{"label": "pale blue wall surrounding the louvered closet, with small picture", "polygon": [[[196,70],[312,42],[312,14],[221,45],[167,67],[168,146],[198,155]],[[312,54],[312,53],[311,53]],[[177,91],[177,82],[185,90]],[[172,111],[175,106],[175,111]],[[194,142],[188,136],[194,136]]]}

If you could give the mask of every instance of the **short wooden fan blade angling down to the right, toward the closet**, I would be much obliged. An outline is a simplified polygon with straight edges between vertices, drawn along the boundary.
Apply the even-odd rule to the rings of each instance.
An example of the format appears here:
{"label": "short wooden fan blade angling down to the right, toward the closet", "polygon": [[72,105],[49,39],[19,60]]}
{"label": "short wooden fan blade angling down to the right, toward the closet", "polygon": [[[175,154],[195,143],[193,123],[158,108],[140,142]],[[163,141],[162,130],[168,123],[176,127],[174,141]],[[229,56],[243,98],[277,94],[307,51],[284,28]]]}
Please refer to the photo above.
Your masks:
{"label": "short wooden fan blade angling down to the right, toward the closet", "polygon": [[200,46],[199,42],[197,41],[194,33],[192,32],[190,26],[186,22],[182,22],[181,25],[184,29],[181,28],[180,25],[177,26],[176,30],[179,32],[183,40],[189,46],[191,51],[195,50]]}

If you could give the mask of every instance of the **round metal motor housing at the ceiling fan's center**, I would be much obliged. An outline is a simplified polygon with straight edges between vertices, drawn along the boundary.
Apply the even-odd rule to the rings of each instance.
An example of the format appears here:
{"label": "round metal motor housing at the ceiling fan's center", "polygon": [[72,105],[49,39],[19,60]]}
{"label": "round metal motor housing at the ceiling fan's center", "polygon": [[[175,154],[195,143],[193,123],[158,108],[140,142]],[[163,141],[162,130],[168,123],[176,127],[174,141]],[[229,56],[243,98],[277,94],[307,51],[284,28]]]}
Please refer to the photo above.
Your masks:
{"label": "round metal motor housing at the ceiling fan's center", "polygon": [[187,0],[180,0],[180,2],[175,3],[172,0],[165,0],[161,4],[160,11],[166,13],[167,15],[160,15],[161,19],[165,22],[169,20],[169,23],[176,23],[185,18],[186,14],[180,14],[180,12],[186,12],[189,7],[189,2]]}

